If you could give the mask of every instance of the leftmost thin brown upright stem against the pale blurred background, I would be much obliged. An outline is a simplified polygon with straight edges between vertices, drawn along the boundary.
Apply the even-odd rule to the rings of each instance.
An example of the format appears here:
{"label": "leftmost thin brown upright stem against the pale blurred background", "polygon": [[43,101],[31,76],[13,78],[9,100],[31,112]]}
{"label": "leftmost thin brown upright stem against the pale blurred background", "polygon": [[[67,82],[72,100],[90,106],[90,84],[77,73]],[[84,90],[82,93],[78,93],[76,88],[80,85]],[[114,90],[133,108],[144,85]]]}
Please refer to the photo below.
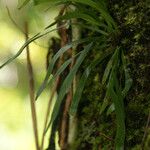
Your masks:
{"label": "leftmost thin brown upright stem against the pale blurred background", "polygon": [[[25,38],[28,40],[28,24],[25,23]],[[32,123],[35,137],[36,150],[40,150],[39,141],[38,141],[38,128],[37,128],[37,116],[36,116],[36,107],[35,107],[35,99],[34,99],[34,77],[33,77],[33,67],[30,58],[29,46],[26,47],[27,51],[27,69],[29,75],[29,92],[30,92],[30,103],[31,103],[31,115],[32,115]]]}

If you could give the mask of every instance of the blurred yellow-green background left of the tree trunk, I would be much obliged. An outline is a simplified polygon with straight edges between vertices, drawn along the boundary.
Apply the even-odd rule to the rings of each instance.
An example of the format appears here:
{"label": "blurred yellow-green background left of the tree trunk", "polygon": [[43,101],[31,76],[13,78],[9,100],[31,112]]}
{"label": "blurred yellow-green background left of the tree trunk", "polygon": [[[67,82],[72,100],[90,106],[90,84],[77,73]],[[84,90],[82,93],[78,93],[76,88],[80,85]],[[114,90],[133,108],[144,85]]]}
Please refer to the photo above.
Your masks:
{"label": "blurred yellow-green background left of the tree trunk", "polygon": [[[22,1],[19,1],[21,3]],[[30,37],[42,31],[56,16],[58,10],[48,6],[30,6],[19,10],[17,0],[0,0],[0,64],[13,56],[25,42],[21,30],[28,21]],[[36,90],[42,82],[46,68],[46,53],[51,33],[30,45]],[[39,46],[40,45],[40,46]],[[45,108],[50,91],[46,90],[36,103],[38,127],[41,137]],[[11,64],[0,70],[0,150],[34,150],[30,101],[28,94],[28,73],[25,51]]]}

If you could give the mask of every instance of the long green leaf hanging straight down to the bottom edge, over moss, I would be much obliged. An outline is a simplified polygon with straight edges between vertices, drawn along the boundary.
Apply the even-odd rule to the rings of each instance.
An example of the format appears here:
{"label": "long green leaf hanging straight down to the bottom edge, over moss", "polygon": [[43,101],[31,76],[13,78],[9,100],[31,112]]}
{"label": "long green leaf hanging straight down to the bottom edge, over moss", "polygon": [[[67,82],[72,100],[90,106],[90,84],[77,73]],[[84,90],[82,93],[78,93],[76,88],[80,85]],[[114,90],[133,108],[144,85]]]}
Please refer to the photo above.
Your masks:
{"label": "long green leaf hanging straight down to the bottom edge, over moss", "polygon": [[124,102],[121,91],[121,85],[119,84],[117,72],[120,66],[120,49],[117,48],[114,52],[113,64],[111,70],[109,71],[109,79],[107,83],[107,95],[113,101],[115,114],[116,114],[116,138],[115,138],[115,149],[123,150],[124,149],[124,140],[125,140],[125,112],[124,112]]}

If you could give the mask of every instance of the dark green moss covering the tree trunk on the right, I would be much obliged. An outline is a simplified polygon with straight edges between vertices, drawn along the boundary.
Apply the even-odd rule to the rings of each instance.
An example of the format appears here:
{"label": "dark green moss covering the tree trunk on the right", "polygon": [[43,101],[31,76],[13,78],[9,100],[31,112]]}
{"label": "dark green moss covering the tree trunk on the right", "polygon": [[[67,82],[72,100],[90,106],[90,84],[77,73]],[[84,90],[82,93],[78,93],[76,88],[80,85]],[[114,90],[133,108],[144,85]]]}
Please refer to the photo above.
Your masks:
{"label": "dark green moss covering the tree trunk on the right", "polygon": [[[142,140],[150,108],[150,3],[148,0],[109,0],[108,6],[120,31],[115,38],[110,38],[111,43],[124,49],[133,79],[132,88],[124,101],[125,149],[148,150],[150,130],[144,143]],[[104,98],[104,87],[101,84],[103,70],[102,65],[96,67],[84,89],[78,111],[75,149],[114,149],[115,113],[106,115],[104,112],[100,115]]]}

